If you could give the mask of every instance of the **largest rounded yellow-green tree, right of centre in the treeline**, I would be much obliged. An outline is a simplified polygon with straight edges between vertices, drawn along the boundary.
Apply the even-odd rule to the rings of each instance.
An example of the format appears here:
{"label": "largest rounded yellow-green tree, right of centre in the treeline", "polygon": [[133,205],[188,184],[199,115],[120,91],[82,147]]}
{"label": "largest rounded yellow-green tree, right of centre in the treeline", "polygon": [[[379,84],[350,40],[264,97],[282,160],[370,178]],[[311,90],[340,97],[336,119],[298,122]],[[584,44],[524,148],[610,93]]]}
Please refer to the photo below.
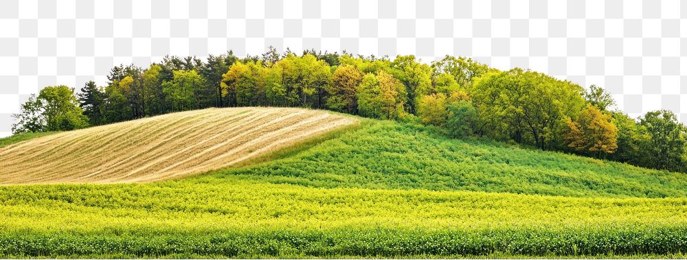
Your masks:
{"label": "largest rounded yellow-green tree, right of centre in the treeline", "polygon": [[585,106],[581,86],[522,69],[486,73],[470,91],[493,137],[540,149],[552,149],[562,135],[563,119],[576,118]]}

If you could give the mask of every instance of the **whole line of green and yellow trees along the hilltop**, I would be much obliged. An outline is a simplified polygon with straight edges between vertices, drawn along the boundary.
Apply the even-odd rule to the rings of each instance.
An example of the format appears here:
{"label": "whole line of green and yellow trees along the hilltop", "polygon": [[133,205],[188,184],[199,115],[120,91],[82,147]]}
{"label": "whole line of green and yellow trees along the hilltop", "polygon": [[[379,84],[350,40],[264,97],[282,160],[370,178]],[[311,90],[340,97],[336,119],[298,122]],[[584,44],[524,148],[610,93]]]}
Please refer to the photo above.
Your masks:
{"label": "whole line of green and yellow trees along the hilltop", "polygon": [[486,137],[687,172],[687,128],[668,110],[635,120],[602,88],[543,73],[499,71],[469,58],[425,64],[414,56],[363,57],[271,48],[203,61],[166,57],[148,68],[112,69],[106,86],[78,95],[44,88],[23,104],[12,131],[71,130],[182,110],[283,106],[335,110],[437,126],[454,137]]}

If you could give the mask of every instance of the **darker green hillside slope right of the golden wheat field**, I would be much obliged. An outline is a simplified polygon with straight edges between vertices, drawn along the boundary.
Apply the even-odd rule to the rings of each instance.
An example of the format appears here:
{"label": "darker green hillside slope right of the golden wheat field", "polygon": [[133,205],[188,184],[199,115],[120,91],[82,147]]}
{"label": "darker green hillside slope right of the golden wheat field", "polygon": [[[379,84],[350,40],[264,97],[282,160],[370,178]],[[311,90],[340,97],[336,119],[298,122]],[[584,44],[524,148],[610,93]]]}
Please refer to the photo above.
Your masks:
{"label": "darker green hillside slope right of the golden wheat field", "polygon": [[430,128],[363,120],[363,128],[256,167],[206,176],[244,176],[307,187],[466,190],[574,197],[687,196],[687,174],[530,150],[493,141],[448,139]]}

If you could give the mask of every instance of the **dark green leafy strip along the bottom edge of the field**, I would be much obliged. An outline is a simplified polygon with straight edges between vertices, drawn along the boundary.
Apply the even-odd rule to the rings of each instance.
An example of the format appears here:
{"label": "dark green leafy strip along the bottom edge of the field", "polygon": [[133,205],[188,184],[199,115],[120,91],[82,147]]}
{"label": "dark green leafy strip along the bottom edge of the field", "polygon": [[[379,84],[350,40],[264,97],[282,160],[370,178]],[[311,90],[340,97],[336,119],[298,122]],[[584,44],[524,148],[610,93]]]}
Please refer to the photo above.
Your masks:
{"label": "dark green leafy strip along the bottom edge of the field", "polygon": [[0,256],[111,255],[163,257],[216,255],[306,257],[399,255],[638,255],[687,252],[687,226],[650,229],[549,231],[495,229],[476,232],[390,229],[331,231],[271,230],[206,234],[159,233],[104,236],[97,234],[2,234]]}

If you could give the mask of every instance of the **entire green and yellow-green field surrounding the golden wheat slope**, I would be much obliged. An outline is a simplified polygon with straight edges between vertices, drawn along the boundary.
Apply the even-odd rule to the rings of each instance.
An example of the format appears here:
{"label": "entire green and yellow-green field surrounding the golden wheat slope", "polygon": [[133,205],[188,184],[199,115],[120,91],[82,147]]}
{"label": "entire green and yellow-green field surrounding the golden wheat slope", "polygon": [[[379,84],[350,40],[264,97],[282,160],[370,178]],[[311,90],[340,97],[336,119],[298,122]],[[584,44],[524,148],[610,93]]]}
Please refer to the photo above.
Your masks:
{"label": "entire green and yellow-green field surrounding the golden wheat slope", "polygon": [[202,176],[0,187],[0,257],[685,252],[687,174],[374,119]]}

